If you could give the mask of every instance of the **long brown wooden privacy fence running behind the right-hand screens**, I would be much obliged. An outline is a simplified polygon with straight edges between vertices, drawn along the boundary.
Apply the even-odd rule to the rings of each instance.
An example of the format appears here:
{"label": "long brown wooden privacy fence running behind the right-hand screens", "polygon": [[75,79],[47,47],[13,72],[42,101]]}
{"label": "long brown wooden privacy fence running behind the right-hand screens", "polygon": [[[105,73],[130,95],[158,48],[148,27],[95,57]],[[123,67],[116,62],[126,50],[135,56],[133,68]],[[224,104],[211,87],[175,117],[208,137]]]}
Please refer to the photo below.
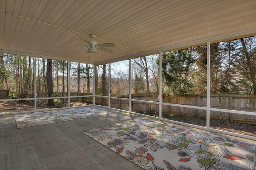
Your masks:
{"label": "long brown wooden privacy fence running behind the right-hand screens", "polygon": [[[123,98],[128,98],[124,96]],[[93,96],[91,97],[81,97],[78,98],[80,101],[92,103]],[[155,97],[149,96],[134,96],[132,99],[136,100],[146,100],[146,101],[156,101]],[[73,99],[72,99],[73,100]],[[102,98],[96,98],[96,104],[101,104]],[[108,98],[106,100],[106,106],[108,106]],[[129,101],[120,99],[111,99],[110,106],[116,109],[128,110]],[[206,110],[204,109],[194,109],[188,107],[177,107],[177,106],[168,106],[164,103],[172,104],[184,104],[189,106],[200,106],[206,107],[206,95],[188,95],[188,96],[176,96],[176,97],[162,97],[162,113],[169,115],[187,115],[187,116],[200,116],[206,117]],[[255,112],[255,115],[243,115],[237,113],[228,113],[220,111],[210,111],[210,118],[214,119],[226,119],[229,121],[236,122],[247,122],[247,123],[256,123],[256,95],[248,94],[239,94],[239,95],[218,95],[214,94],[210,96],[210,107],[218,109],[232,109],[238,111],[250,111]],[[132,111],[138,113],[149,113],[149,114],[158,114],[159,105],[158,104],[149,104],[146,102],[137,102],[132,101]]]}

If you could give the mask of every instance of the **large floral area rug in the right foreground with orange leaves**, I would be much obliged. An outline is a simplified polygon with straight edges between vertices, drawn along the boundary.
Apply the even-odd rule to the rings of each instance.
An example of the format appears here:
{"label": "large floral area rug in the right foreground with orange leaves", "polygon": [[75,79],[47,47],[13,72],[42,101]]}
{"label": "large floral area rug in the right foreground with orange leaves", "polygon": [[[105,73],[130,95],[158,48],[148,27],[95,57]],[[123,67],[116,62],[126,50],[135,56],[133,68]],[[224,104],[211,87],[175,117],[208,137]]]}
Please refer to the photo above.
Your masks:
{"label": "large floral area rug in the right foreground with orange leaves", "polygon": [[145,170],[255,170],[256,143],[181,125],[137,118],[83,133]]}

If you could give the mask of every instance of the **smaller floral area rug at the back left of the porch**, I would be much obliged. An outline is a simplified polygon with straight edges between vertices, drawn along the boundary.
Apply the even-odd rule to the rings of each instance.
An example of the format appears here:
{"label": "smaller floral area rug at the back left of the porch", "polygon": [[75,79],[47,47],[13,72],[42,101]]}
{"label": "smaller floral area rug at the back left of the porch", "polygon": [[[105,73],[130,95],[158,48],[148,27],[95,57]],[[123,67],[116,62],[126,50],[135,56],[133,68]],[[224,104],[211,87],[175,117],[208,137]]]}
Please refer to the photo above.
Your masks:
{"label": "smaller floral area rug at the back left of the porch", "polygon": [[14,115],[17,128],[44,125],[61,121],[69,121],[108,114],[108,111],[93,107],[76,107],[71,109],[59,109],[52,111],[40,111]]}

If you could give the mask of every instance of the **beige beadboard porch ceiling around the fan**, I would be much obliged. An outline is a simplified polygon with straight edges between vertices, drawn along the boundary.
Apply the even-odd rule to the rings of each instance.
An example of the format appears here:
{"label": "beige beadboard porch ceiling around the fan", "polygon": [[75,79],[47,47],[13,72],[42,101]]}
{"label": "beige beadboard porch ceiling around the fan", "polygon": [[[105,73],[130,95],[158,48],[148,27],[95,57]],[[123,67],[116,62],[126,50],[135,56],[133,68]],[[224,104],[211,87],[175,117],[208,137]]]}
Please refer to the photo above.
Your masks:
{"label": "beige beadboard porch ceiling around the fan", "polygon": [[251,35],[256,0],[0,0],[1,53],[103,64]]}

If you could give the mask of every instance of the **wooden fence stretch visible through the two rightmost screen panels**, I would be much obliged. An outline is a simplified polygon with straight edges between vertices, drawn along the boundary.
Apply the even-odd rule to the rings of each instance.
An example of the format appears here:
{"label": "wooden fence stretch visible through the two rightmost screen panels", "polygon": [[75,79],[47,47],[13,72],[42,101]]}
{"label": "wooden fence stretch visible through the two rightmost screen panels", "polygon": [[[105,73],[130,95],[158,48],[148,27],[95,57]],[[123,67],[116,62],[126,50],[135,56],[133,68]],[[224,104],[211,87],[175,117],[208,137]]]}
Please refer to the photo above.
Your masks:
{"label": "wooden fence stretch visible through the two rightmost screen panels", "polygon": [[[190,106],[206,107],[206,95],[176,96],[174,98],[165,98],[162,102],[173,104],[184,104]],[[255,112],[255,115],[243,115],[237,113],[228,113],[220,111],[210,111],[210,118],[228,119],[229,121],[246,121],[256,123],[256,95],[218,95],[210,96],[210,107],[218,109],[232,109],[238,111]],[[162,107],[163,113],[185,114],[206,117],[206,110],[193,109],[186,107],[166,106]]]}

